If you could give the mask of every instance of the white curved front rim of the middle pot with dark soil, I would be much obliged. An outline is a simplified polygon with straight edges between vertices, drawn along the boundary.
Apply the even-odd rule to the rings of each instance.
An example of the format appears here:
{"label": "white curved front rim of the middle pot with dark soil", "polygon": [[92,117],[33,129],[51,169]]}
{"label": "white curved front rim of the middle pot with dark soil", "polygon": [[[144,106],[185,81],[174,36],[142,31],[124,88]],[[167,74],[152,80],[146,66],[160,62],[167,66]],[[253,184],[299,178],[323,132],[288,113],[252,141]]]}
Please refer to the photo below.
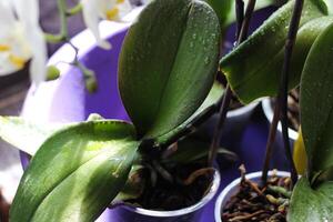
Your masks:
{"label": "white curved front rim of the middle pot with dark soil", "polygon": [[214,172],[214,178],[212,185],[210,188],[210,191],[201,199],[200,202],[190,205],[184,209],[180,210],[174,210],[174,211],[154,211],[154,210],[147,210],[142,208],[135,208],[135,206],[130,206],[130,205],[122,205],[120,208],[124,208],[128,211],[142,214],[142,215],[149,215],[149,216],[157,216],[157,218],[170,218],[170,216],[180,216],[180,215],[185,215],[193,213],[200,209],[202,209],[204,205],[206,205],[216,194],[219,186],[221,182],[221,175],[218,170]]}

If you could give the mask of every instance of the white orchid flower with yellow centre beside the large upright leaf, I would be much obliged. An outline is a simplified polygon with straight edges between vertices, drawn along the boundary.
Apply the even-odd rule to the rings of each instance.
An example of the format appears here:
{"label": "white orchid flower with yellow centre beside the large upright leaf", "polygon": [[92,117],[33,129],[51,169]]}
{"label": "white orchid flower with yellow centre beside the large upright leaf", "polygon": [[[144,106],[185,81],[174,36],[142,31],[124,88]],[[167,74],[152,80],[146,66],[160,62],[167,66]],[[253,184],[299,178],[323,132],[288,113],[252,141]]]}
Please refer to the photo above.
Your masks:
{"label": "white orchid flower with yellow centre beside the large upright leaf", "polygon": [[100,19],[121,21],[132,7],[129,0],[81,0],[83,20],[92,31],[98,44],[103,49],[110,49],[111,44],[103,40],[99,32]]}

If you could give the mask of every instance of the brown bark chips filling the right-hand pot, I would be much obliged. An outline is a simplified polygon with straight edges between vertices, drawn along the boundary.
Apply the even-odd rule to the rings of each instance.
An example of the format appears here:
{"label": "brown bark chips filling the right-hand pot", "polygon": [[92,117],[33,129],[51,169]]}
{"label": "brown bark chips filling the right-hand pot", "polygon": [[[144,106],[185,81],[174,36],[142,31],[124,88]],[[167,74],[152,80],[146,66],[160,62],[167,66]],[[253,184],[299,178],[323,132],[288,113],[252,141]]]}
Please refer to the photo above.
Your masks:
{"label": "brown bark chips filling the right-hand pot", "polygon": [[223,222],[285,222],[291,195],[290,178],[272,175],[263,186],[248,180],[244,172],[239,192],[223,209]]}

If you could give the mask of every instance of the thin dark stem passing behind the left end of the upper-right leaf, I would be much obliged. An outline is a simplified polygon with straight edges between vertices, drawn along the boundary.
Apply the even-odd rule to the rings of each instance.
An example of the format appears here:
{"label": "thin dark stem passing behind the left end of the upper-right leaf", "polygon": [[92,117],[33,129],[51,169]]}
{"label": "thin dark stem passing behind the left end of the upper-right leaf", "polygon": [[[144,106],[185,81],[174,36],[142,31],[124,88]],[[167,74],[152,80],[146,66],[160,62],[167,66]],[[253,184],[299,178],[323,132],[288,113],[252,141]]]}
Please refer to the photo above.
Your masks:
{"label": "thin dark stem passing behind the left end of the upper-right leaf", "polygon": [[[246,7],[246,11],[245,11],[245,16],[243,17],[239,13],[243,13],[244,3],[241,0],[236,1],[236,9],[235,9],[235,11],[238,13],[236,18],[238,19],[244,18],[241,21],[238,20],[238,27],[241,27],[241,29],[238,30],[236,47],[240,43],[242,43],[248,37],[249,24],[250,24],[250,21],[251,21],[251,18],[252,18],[252,13],[253,13],[253,10],[254,10],[254,7],[255,7],[255,2],[256,2],[256,0],[250,0],[249,1],[248,7]],[[209,152],[209,161],[208,161],[209,167],[213,165],[213,161],[214,161],[214,159],[218,154],[220,138],[221,138],[221,134],[222,134],[222,129],[223,129],[223,124],[225,122],[225,118],[226,118],[226,113],[228,113],[228,109],[229,109],[229,105],[230,105],[231,98],[232,98],[232,91],[231,91],[230,84],[228,83],[226,84],[226,90],[224,92],[223,101],[222,101],[222,104],[221,104],[221,108],[220,108],[220,112],[219,112],[220,118],[219,118],[219,121],[218,121],[218,124],[216,124],[216,128],[215,128],[215,131],[214,131],[211,149],[210,149],[210,152]]]}

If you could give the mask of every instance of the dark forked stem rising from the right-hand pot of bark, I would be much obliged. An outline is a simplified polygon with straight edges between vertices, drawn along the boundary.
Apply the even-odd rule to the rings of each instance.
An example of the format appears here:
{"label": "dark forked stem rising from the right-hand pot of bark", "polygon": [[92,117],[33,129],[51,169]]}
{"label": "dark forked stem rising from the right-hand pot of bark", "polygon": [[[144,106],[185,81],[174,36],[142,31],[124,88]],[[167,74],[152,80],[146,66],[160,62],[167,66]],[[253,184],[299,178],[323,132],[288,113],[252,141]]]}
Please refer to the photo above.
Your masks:
{"label": "dark forked stem rising from the right-hand pot of bark", "polygon": [[[287,87],[289,87],[289,72],[290,72],[290,67],[291,67],[291,59],[292,59],[293,48],[295,44],[297,30],[299,30],[299,26],[300,26],[300,20],[301,20],[301,16],[302,16],[303,3],[304,3],[304,0],[295,1],[292,19],[290,22],[287,38],[285,41],[284,62],[283,62],[283,68],[282,68],[280,91],[279,91],[278,101],[276,101],[275,109],[274,109],[274,117],[275,115],[279,117],[280,112],[281,112],[283,143],[284,143],[286,159],[290,162],[290,172],[291,172],[291,179],[292,179],[293,185],[297,182],[299,174],[297,174],[294,161],[293,161],[291,145],[290,145],[290,141],[289,141],[289,132],[287,132],[287,89],[289,88]],[[278,123],[275,123],[275,124],[278,125]],[[273,132],[274,131],[276,132],[276,125],[272,125],[272,127],[274,127],[274,129],[272,129],[272,127],[271,127],[271,130]],[[271,132],[270,132],[270,134],[271,134]],[[270,142],[272,142],[272,141],[270,141]],[[269,153],[269,155],[271,155],[270,152],[268,152],[268,153]],[[265,162],[270,162],[271,157],[269,157],[269,155],[268,155],[268,160],[265,160]],[[266,178],[268,178],[268,165],[269,164],[264,165],[264,171],[263,171],[263,175],[262,175],[262,179],[264,179],[263,180],[264,183],[266,182]]]}

